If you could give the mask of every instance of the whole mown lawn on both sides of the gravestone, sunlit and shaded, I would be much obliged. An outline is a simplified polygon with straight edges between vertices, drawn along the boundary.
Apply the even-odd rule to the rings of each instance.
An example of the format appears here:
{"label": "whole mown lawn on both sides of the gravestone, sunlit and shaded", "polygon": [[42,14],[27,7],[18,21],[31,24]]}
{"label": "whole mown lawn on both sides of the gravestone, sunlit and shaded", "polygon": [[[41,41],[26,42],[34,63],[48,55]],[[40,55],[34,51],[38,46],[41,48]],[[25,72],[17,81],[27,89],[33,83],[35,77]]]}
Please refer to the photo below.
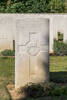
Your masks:
{"label": "whole mown lawn on both sides of the gravestone, sunlit and shaded", "polygon": [[[15,59],[0,58],[0,100],[11,100],[6,88],[7,84],[14,84]],[[67,57],[50,57],[50,81],[67,83]],[[25,98],[24,100],[67,100],[67,97],[43,97],[38,99]]]}

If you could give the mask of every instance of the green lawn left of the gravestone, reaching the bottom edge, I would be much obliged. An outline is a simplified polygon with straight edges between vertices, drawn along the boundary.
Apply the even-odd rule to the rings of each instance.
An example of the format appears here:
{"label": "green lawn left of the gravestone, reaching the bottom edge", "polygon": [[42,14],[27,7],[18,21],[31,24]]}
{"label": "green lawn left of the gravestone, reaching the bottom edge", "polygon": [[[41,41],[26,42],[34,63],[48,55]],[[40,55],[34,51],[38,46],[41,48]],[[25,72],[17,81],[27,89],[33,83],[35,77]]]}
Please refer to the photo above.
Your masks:
{"label": "green lawn left of the gravestone, reaching the bottom edge", "polygon": [[6,88],[9,83],[14,83],[14,58],[0,58],[0,100],[11,100]]}

